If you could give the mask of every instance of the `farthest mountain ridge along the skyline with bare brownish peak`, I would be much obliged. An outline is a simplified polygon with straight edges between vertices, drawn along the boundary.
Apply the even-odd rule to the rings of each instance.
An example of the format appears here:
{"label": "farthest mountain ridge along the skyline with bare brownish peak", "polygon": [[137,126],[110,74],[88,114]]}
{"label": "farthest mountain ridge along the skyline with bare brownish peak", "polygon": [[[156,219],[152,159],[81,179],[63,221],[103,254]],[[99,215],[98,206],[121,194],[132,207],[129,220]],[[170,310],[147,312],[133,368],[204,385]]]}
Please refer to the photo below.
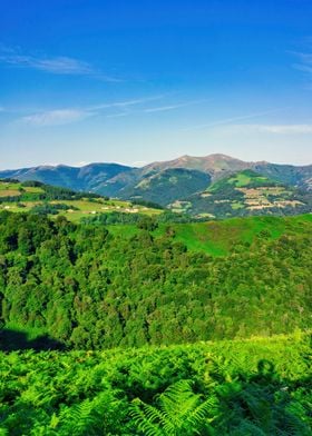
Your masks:
{"label": "farthest mountain ridge along the skyline with bare brownish peak", "polygon": [[[244,161],[224,153],[212,153],[203,157],[184,155],[172,160],[154,161],[144,167],[131,167],[115,162],[94,162],[82,167],[61,164],[57,166],[43,165],[3,170],[0,171],[0,178],[16,178],[20,181],[37,180],[75,190],[128,198],[135,195],[137,186],[147,178],[159,175],[158,179],[163,180],[162,175],[167,176],[164,171],[178,168],[205,174],[211,178],[211,182],[237,171],[251,169],[272,180],[295,188],[312,189],[312,165],[294,166],[266,161]],[[195,177],[195,174],[193,176]],[[183,184],[185,184],[185,178]],[[178,191],[178,181],[176,185],[176,191]]]}

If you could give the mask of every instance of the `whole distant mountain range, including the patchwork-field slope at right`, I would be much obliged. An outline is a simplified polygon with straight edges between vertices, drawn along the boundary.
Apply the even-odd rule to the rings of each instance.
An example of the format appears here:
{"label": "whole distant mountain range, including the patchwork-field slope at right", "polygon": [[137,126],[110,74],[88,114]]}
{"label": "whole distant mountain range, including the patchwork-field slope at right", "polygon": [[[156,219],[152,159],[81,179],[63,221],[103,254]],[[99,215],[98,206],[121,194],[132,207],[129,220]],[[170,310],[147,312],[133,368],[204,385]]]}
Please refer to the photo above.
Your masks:
{"label": "whole distant mountain range, including the patchwork-field slope at right", "polygon": [[[235,186],[235,182],[231,181],[233,176],[241,178],[241,181],[244,179],[245,185]],[[220,153],[206,157],[182,156],[174,160],[156,161],[142,168],[118,164],[89,164],[80,168],[59,165],[0,171],[0,178],[21,181],[38,180],[48,185],[96,192],[108,197],[154,201],[174,210],[176,208],[185,210],[186,206],[186,209],[193,214],[211,214],[212,209],[215,210],[215,207],[211,207],[213,202],[226,200],[225,192],[231,196],[227,198],[231,201],[234,197],[236,198],[237,201],[232,205],[231,209],[236,210],[236,214],[242,212],[244,206],[245,209],[256,210],[260,205],[246,197],[246,192],[244,194],[242,189],[254,188],[257,176],[262,177],[264,186],[259,185],[261,179],[257,179],[256,189],[267,188],[271,184],[272,189],[266,192],[266,196],[271,195],[272,197],[272,192],[275,195],[277,191],[284,192],[282,197],[279,195],[275,198],[277,204],[273,201],[273,208],[276,205],[281,208],[283,201],[295,201],[287,204],[287,206],[292,205],[292,208],[296,202],[305,205],[305,197],[309,197],[308,204],[310,204],[312,165],[248,162]],[[224,180],[224,184],[220,184],[221,180]],[[246,180],[250,180],[251,185]],[[215,186],[216,190],[212,188]],[[280,189],[276,190],[276,186]],[[262,200],[263,192],[259,196]],[[285,195],[285,192],[289,194]],[[246,204],[245,200],[247,200]],[[176,204],[176,201],[187,202]],[[251,205],[251,202],[253,204]],[[270,209],[267,205],[263,209],[266,208]],[[223,210],[225,209],[223,208]],[[228,211],[226,214],[228,215]]]}

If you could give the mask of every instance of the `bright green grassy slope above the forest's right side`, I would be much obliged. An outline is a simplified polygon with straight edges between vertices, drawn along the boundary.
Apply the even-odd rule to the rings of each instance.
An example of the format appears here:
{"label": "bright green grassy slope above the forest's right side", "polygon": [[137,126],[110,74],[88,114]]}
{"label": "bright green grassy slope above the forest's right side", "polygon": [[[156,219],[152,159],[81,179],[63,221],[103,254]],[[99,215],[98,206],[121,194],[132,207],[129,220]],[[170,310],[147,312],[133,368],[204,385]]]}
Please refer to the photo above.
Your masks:
{"label": "bright green grassy slope above the forest's right side", "polygon": [[[135,216],[131,216],[134,219]],[[248,245],[259,240],[274,240],[282,235],[310,236],[312,231],[312,215],[294,217],[245,217],[211,220],[203,222],[167,222],[163,224],[163,216],[153,221],[157,228],[153,231],[155,237],[172,234],[174,240],[183,242],[191,251],[204,251],[211,256],[225,256],[235,245]],[[88,219],[88,222],[101,221],[98,218]],[[139,235],[140,229],[135,224],[118,224],[114,226],[107,221],[109,232],[121,238],[131,238]]]}

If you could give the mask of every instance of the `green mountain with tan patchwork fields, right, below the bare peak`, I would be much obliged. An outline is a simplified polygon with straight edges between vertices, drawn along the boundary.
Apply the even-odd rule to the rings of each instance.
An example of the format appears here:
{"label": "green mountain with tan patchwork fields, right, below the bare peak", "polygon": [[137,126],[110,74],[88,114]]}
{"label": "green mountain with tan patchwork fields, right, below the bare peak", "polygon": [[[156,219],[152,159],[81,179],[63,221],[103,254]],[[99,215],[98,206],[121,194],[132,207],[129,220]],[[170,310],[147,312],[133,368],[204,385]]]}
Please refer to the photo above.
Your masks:
{"label": "green mountain with tan patchwork fields, right, below the bare peak", "polygon": [[247,169],[218,179],[206,190],[174,201],[169,208],[216,218],[295,215],[312,210],[312,192],[289,187]]}

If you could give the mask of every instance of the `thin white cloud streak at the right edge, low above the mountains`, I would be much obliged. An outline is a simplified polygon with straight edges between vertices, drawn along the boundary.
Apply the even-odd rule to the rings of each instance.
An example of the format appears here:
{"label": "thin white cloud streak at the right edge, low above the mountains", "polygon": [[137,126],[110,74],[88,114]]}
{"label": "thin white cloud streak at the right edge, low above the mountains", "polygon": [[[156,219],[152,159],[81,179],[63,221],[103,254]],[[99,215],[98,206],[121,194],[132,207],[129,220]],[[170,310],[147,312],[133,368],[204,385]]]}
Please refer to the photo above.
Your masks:
{"label": "thin white cloud streak at the right edge, low above the mountains", "polygon": [[274,135],[311,135],[312,125],[233,125],[231,129],[240,132],[259,132]]}

